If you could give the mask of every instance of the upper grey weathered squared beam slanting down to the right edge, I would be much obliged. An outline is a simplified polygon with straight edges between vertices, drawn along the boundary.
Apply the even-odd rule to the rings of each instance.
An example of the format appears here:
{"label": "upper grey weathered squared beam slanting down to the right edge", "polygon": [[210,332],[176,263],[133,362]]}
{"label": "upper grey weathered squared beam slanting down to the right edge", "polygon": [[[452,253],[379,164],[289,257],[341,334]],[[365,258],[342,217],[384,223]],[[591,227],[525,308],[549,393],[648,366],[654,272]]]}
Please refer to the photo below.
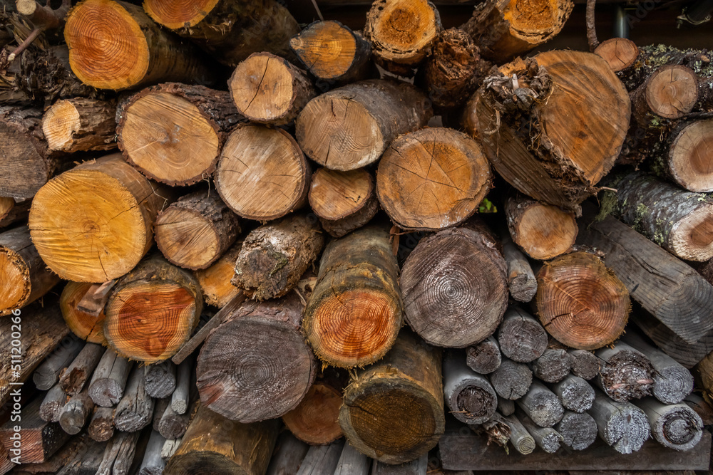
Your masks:
{"label": "upper grey weathered squared beam slanting down to the right edge", "polygon": [[713,328],[713,287],[686,263],[611,216],[580,229],[578,242],[602,251],[632,298],[673,333],[693,343]]}

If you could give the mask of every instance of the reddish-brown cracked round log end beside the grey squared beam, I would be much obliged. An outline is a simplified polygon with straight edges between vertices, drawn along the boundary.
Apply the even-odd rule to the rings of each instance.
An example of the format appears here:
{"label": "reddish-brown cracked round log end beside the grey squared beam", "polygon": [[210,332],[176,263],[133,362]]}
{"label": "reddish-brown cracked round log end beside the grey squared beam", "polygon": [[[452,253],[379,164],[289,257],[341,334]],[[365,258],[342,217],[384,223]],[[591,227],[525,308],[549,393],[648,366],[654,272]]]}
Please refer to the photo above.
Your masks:
{"label": "reddish-brown cracked round log end beside the grey squared beam", "polygon": [[617,277],[585,251],[545,263],[537,273],[535,296],[540,323],[571,348],[595,350],[612,343],[624,331],[631,309],[629,292]]}

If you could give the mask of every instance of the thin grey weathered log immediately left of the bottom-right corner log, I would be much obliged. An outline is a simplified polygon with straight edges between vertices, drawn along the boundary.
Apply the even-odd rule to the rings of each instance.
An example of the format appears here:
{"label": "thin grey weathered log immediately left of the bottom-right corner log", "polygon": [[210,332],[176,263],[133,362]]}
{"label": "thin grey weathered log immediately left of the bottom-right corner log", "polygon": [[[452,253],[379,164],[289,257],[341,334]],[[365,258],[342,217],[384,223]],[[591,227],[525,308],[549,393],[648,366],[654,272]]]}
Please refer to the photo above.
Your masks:
{"label": "thin grey weathered log immediately left of the bottom-right corner log", "polygon": [[651,431],[646,414],[630,402],[616,402],[597,391],[589,414],[597,422],[599,437],[620,454],[641,449]]}

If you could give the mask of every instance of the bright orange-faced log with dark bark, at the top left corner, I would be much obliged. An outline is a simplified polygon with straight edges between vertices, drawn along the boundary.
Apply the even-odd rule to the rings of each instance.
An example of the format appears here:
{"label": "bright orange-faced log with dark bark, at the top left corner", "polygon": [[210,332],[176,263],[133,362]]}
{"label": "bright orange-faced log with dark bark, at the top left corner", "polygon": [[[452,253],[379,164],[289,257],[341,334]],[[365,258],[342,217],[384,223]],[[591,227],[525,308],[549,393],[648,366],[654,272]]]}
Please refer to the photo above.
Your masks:
{"label": "bright orange-faced log with dark bark, at the top left corner", "polygon": [[[103,41],[97,43],[98,37]],[[123,1],[82,1],[67,15],[64,39],[73,73],[98,89],[212,81],[198,51],[161,30],[140,6]]]}

